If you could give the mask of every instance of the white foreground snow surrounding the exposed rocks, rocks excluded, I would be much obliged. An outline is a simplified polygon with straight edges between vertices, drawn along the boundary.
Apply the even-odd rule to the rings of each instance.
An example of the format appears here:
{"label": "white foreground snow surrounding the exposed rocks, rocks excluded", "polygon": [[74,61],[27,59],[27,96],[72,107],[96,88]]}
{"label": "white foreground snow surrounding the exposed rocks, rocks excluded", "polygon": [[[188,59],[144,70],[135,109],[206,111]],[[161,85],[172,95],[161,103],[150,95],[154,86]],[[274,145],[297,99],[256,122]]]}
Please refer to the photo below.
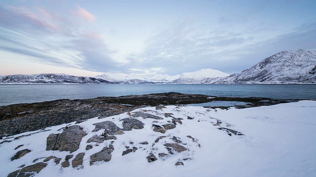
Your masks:
{"label": "white foreground snow surrounding the exposed rocks, rocks excluded", "polygon": [[[99,146],[85,151],[86,140],[95,134],[102,133],[102,131],[92,132],[94,129],[92,124],[111,120],[122,127],[119,119],[129,117],[129,115],[124,113],[103,119],[91,118],[78,124],[88,135],[83,137],[79,149],[73,152],[73,158],[79,152],[86,153],[83,158],[84,167],[82,169],[62,168],[60,164],[56,165],[53,160],[50,160],[47,167],[36,177],[119,177],[126,175],[132,177],[313,177],[316,174],[316,101],[304,100],[274,106],[228,110],[185,105],[166,106],[162,110],[147,107],[131,113],[138,111],[146,111],[163,117],[164,119],[159,120],[158,124],[167,123],[168,118],[162,116],[164,113],[172,113],[176,118],[183,118],[183,124],[177,124],[175,129],[161,134],[152,130],[151,124],[154,119],[139,117],[137,119],[145,123],[144,128],[124,131],[125,134],[116,135],[118,139],[113,144],[112,160],[90,166],[90,155],[100,151],[111,142],[111,140],[105,141]],[[188,119],[188,116],[194,119]],[[217,119],[223,122],[222,127],[231,125],[230,129],[237,130],[244,135],[229,136],[225,131],[218,130],[218,126],[213,125]],[[48,127],[46,129],[49,131],[18,140],[14,140],[14,138],[34,132],[6,139],[12,140],[12,142],[0,145],[0,174],[7,176],[23,164],[26,166],[34,164],[33,160],[39,157],[54,155],[61,157],[61,162],[63,162],[64,157],[70,153],[46,151],[46,137],[51,133],[60,133],[61,131],[58,129],[73,124],[75,122]],[[188,140],[186,136],[191,135],[198,139],[201,147],[188,141],[189,144],[186,146],[190,151],[174,154],[164,160],[158,158],[152,163],[147,162],[146,156],[152,150],[151,142],[162,135],[174,135],[180,137],[182,141]],[[4,140],[0,142],[2,141]],[[138,143],[144,141],[148,141],[150,144],[146,149],[139,148],[135,152],[122,156],[122,151],[126,149],[124,146],[129,146],[129,141],[134,142],[132,146],[139,146]],[[19,145],[24,146],[14,150]],[[25,148],[31,149],[32,152],[18,160],[10,160],[18,150]],[[165,150],[158,143],[156,148],[158,151]],[[193,159],[183,161],[184,166],[174,165],[184,157]],[[72,159],[70,159],[71,161]]]}

